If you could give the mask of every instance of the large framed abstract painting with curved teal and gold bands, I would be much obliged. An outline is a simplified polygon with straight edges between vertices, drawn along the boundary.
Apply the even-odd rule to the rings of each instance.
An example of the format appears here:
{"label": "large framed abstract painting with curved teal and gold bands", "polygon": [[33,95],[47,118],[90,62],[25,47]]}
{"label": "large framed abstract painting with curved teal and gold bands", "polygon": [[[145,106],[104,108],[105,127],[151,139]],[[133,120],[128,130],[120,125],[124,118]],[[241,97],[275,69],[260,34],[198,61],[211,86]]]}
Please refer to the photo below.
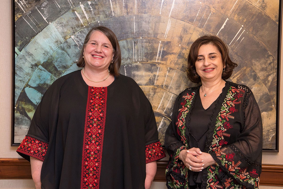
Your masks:
{"label": "large framed abstract painting with curved teal and gold bands", "polygon": [[278,61],[281,2],[277,0],[12,0],[14,102],[12,145],[18,145],[42,95],[79,68],[88,31],[117,35],[120,73],[132,77],[152,104],[161,143],[177,95],[196,86],[186,76],[191,44],[217,35],[238,63],[232,82],[247,85],[263,119],[263,148],[278,150]]}

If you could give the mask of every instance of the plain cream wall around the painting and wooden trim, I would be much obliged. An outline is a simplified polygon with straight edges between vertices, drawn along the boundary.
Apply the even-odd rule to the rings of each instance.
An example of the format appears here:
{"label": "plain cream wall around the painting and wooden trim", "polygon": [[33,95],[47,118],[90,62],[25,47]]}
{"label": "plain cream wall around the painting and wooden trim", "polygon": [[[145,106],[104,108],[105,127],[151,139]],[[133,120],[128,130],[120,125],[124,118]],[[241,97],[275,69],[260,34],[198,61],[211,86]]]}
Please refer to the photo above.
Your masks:
{"label": "plain cream wall around the painting and wooden trim", "polygon": [[[11,0],[1,1],[1,17],[0,17],[0,158],[18,158],[16,147],[11,147],[11,103],[12,103],[12,13]],[[281,51],[283,55],[283,52]],[[282,56],[283,57],[283,56]],[[283,62],[283,58],[281,58]],[[283,66],[282,66],[283,67]],[[281,67],[281,73],[283,68]],[[280,107],[283,107],[283,79],[280,85]],[[283,117],[283,111],[280,113]],[[279,146],[283,146],[283,119],[279,124],[280,142]],[[262,163],[265,164],[281,164],[283,165],[283,149],[280,148],[279,153],[263,153]],[[29,189],[34,188],[32,180],[1,180],[0,189]],[[165,189],[164,182],[154,182],[153,189]],[[260,186],[260,189],[280,189],[283,187]]]}

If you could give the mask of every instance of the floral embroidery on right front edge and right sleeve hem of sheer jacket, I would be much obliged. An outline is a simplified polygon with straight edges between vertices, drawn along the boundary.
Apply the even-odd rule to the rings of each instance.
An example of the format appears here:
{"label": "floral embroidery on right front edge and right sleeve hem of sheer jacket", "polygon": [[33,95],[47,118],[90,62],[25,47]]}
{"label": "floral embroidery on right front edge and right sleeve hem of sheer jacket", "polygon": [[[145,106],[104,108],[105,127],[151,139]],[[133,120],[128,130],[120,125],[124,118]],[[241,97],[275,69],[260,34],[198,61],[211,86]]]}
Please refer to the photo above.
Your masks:
{"label": "floral embroidery on right front edge and right sleeve hem of sheer jacket", "polygon": [[[234,119],[233,113],[237,112],[236,108],[238,104],[241,104],[243,94],[246,92],[243,88],[236,88],[231,86],[228,90],[224,103],[222,104],[221,111],[218,114],[216,121],[216,128],[214,130],[213,142],[210,146],[209,152],[213,151],[216,154],[216,157],[221,161],[221,165],[225,167],[227,171],[236,179],[241,180],[241,182],[248,182],[249,184],[254,185],[254,188],[258,188],[258,174],[256,173],[256,169],[248,172],[247,169],[241,169],[239,165],[241,165],[241,161],[235,162],[234,156],[235,153],[226,153],[225,151],[228,149],[223,147],[227,142],[225,138],[230,137],[226,131],[228,129],[233,128],[233,125],[230,124],[229,120]],[[219,169],[219,170],[218,170]],[[219,171],[223,171],[220,167],[215,167],[213,165],[207,168],[208,170],[208,180],[207,180],[207,188],[215,188],[215,184],[220,182],[217,174]],[[235,183],[236,181],[233,179],[226,179],[225,188],[246,188],[239,183]],[[218,187],[220,188],[220,187]],[[223,188],[223,187],[222,187]]]}

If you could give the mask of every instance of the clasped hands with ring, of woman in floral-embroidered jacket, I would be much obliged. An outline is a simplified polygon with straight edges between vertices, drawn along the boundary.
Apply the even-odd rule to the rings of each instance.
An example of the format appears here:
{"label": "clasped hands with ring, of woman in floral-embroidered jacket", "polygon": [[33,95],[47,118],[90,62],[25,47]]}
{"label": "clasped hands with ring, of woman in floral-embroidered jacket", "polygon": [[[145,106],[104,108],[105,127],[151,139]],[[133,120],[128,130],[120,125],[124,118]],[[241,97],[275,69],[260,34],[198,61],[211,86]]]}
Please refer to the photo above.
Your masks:
{"label": "clasped hands with ring, of woman in floral-embroidered jacket", "polygon": [[215,160],[209,153],[201,152],[200,148],[190,148],[182,150],[179,154],[179,159],[191,171],[202,171],[209,165],[215,164]]}

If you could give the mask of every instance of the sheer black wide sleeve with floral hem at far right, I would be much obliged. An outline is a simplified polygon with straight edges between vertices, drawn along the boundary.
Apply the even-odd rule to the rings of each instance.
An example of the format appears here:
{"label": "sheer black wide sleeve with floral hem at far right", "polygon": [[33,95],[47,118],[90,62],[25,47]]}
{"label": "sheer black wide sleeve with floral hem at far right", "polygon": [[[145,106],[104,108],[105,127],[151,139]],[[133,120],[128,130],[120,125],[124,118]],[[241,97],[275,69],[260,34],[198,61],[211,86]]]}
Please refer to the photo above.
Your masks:
{"label": "sheer black wide sleeve with floral hem at far right", "polygon": [[252,92],[243,97],[242,112],[243,123],[237,141],[211,151],[210,154],[224,170],[219,171],[218,178],[224,181],[233,178],[248,188],[258,188],[261,174],[262,121]]}

